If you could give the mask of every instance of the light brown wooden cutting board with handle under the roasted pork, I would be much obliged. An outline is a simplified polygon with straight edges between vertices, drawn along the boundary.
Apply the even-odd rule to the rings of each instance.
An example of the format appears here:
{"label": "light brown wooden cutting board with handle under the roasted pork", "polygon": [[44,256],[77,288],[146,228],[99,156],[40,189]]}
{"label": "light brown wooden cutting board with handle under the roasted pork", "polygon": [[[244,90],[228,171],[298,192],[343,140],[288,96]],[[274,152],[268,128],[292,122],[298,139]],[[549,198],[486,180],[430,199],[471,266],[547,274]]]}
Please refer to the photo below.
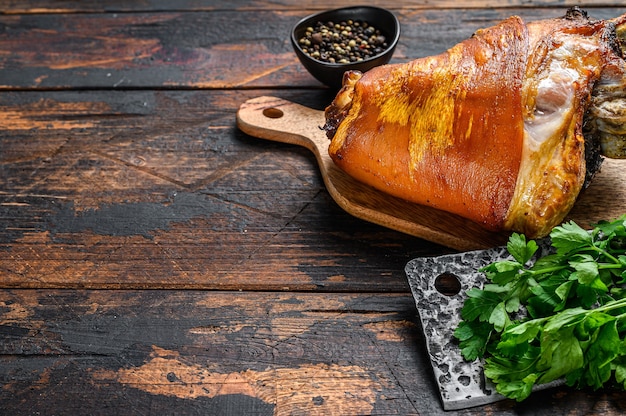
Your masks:
{"label": "light brown wooden cutting board with handle under the roasted pork", "polygon": [[[321,129],[323,111],[277,97],[244,102],[237,125],[245,133],[311,150],[332,198],[346,212],[384,227],[460,251],[506,244],[509,233],[494,233],[465,218],[387,195],[357,182],[328,155],[329,139]],[[626,160],[607,159],[566,220],[585,228],[626,213]]]}

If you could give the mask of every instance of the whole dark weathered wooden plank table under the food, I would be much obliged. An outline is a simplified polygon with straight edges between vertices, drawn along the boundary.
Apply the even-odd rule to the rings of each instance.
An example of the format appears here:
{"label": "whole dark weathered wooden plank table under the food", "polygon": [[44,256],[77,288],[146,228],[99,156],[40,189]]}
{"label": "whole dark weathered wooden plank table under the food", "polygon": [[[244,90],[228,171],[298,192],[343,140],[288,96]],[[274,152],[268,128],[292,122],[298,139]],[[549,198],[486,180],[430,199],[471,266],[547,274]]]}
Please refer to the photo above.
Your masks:
{"label": "whole dark weathered wooden plank table under the food", "polygon": [[[452,250],[236,127],[257,96],[330,102],[289,29],[347,3],[0,1],[0,414],[446,413],[404,266]],[[578,2],[374,3],[402,62]],[[625,411],[556,388],[446,414]]]}

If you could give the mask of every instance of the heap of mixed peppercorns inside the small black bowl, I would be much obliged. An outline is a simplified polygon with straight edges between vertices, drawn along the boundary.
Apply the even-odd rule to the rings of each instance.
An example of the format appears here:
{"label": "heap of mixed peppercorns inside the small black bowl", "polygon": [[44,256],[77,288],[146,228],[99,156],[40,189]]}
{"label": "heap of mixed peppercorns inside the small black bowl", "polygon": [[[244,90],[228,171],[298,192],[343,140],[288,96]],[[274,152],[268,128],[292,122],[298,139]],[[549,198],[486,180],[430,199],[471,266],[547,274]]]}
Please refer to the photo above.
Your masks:
{"label": "heap of mixed peppercorns inside the small black bowl", "polygon": [[388,47],[385,36],[361,20],[317,22],[306,28],[298,42],[302,51],[313,59],[342,64],[374,57]]}

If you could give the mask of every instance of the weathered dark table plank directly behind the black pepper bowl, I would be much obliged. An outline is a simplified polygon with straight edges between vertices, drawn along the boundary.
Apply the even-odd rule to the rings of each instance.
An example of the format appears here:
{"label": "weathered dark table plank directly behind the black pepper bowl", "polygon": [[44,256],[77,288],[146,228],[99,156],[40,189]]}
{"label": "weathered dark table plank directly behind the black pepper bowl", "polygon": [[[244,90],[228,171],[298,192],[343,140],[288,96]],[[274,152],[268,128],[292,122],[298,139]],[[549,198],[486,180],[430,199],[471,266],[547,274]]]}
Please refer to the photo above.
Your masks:
{"label": "weathered dark table plank directly behind the black pepper bowl", "polygon": [[[0,89],[321,88],[299,64],[291,27],[310,10],[0,15]],[[392,62],[440,53],[478,28],[547,9],[398,10]],[[610,18],[625,8],[594,8]]]}

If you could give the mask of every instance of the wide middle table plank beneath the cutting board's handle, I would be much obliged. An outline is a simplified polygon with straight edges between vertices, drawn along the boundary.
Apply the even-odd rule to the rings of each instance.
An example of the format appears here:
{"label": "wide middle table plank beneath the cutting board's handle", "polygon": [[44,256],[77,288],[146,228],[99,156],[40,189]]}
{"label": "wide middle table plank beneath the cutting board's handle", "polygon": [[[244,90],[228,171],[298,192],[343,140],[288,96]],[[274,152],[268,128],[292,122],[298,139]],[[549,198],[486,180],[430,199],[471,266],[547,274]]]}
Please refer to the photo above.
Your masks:
{"label": "wide middle table plank beneath the cutting board's handle", "polygon": [[406,262],[446,250],[346,214],[309,151],[240,132],[256,94],[0,95],[0,286],[408,291]]}

